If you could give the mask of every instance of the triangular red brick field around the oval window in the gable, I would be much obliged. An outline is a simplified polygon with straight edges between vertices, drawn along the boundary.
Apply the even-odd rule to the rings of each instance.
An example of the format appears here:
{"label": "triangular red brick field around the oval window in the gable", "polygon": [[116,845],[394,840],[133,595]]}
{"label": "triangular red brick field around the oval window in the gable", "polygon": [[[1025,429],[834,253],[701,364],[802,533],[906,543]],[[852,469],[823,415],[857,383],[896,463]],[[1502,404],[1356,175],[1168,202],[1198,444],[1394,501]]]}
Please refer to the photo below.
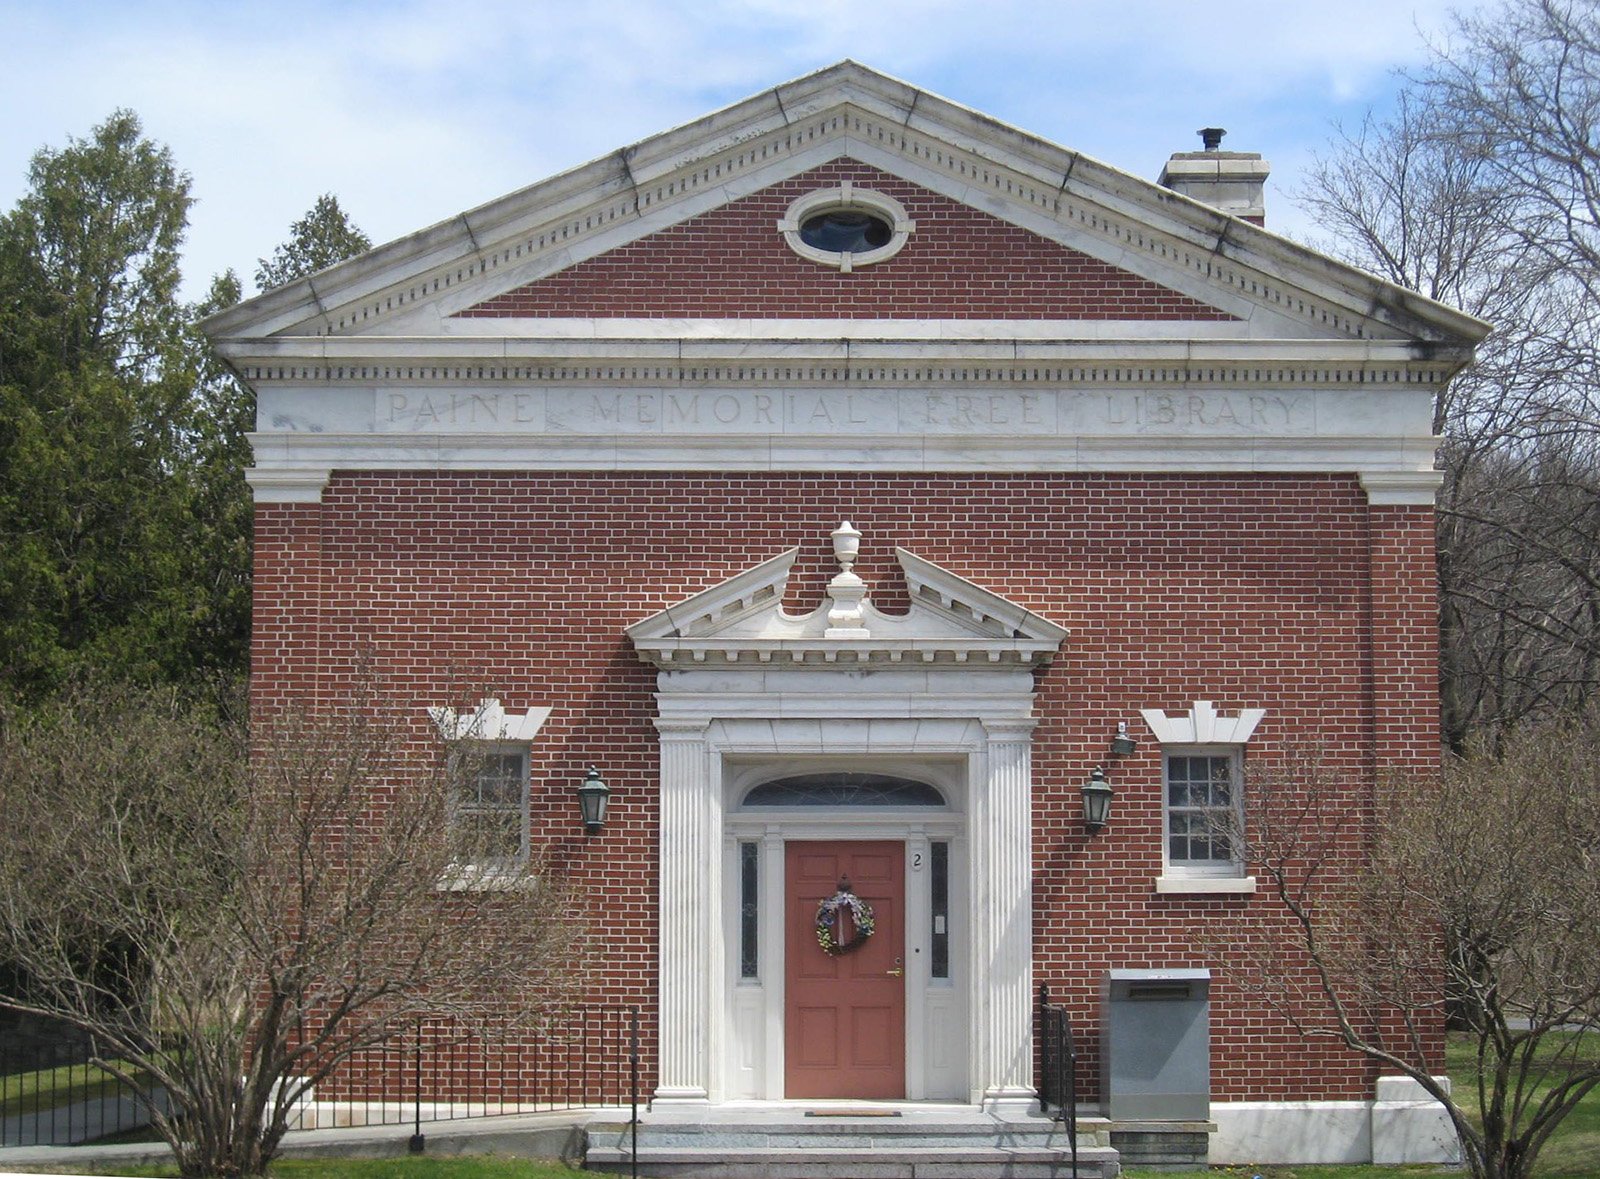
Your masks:
{"label": "triangular red brick field around the oval window in the gable", "polygon": [[[790,202],[851,181],[917,222],[840,274],[778,232]],[[462,317],[1230,320],[1187,294],[856,160],[835,160],[459,312]]]}

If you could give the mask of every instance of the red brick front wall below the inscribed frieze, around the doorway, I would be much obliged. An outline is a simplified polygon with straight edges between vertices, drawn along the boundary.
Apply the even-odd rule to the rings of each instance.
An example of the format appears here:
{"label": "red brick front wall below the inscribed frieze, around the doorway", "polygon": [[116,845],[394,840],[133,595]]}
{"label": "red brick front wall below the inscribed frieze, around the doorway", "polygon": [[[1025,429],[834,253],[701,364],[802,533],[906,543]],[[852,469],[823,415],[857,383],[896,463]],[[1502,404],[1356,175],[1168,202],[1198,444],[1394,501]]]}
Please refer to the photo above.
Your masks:
{"label": "red brick front wall below the inscribed frieze, around the doorway", "polygon": [[[322,504],[256,509],[256,704],[370,670],[408,702],[416,757],[435,749],[422,707],[462,689],[554,705],[531,750],[533,838],[603,915],[592,998],[645,1008],[648,1089],[654,673],[622,627],[790,546],[784,605],[811,609],[843,518],[864,533],[858,573],[882,609],[907,608],[901,546],[1072,632],[1038,675],[1034,944],[1035,981],[1090,1049],[1085,1096],[1101,973],[1210,965],[1214,1099],[1368,1099],[1366,1064],[1304,1041],[1221,973],[1226,949],[1195,941],[1270,936],[1267,896],[1154,893],[1160,750],[1138,720],[1195,699],[1266,707],[1251,761],[1315,742],[1357,809],[1376,768],[1437,761],[1430,510],[1368,507],[1354,477],[336,474]],[[1117,720],[1141,745],[1114,768],[1110,829],[1090,838],[1078,785]],[[571,790],[590,761],[613,798],[586,838]]]}

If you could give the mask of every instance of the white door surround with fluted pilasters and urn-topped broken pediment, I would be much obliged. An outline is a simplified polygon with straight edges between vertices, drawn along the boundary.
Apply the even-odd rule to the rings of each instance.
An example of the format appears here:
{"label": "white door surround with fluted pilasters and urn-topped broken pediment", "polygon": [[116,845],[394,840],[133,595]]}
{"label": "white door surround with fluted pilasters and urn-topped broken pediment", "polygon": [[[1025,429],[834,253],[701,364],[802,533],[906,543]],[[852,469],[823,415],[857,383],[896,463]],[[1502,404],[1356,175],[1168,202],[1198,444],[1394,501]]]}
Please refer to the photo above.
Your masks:
{"label": "white door surround with fluted pilasters and urn-topped broken pediment", "polygon": [[[752,830],[750,817],[730,811],[731,768],[899,761],[957,766],[965,793],[965,813],[933,821],[952,838],[952,872],[965,869],[962,920],[952,913],[965,931],[952,966],[965,961],[965,979],[976,981],[957,987],[966,1008],[963,1091],[973,1102],[1030,1102],[1034,667],[1054,654],[1066,630],[904,550],[896,557],[912,608],[880,614],[851,573],[859,534],[845,525],[834,542],[843,570],[829,603],[811,614],[779,608],[798,552],[789,550],[629,627],[640,657],[659,669],[656,1101],[731,1096],[738,942],[707,936],[730,928],[728,893],[738,889],[730,848]],[[910,846],[931,830],[912,830],[917,821],[882,811],[870,819],[797,816],[773,832],[763,824],[762,838],[781,845],[808,830],[830,827],[837,835],[840,824],[851,824],[851,837],[904,838]],[[763,854],[763,869],[771,862]],[[763,883],[771,893],[770,880]],[[763,925],[776,933],[771,921]],[[770,939],[762,949],[771,952]],[[774,1059],[782,1075],[781,1027],[779,1019],[778,1030],[766,1032],[768,1078]],[[917,1064],[907,1069],[909,1085],[912,1075],[925,1083],[936,1073]],[[765,1088],[771,1093],[770,1083]]]}

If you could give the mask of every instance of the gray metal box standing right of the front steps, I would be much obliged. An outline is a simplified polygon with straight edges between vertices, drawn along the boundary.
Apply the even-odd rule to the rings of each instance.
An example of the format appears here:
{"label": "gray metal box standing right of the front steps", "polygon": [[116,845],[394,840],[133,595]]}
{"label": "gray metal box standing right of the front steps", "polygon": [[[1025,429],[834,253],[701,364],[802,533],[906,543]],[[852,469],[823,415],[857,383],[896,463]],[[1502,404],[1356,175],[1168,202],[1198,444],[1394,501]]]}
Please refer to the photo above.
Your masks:
{"label": "gray metal box standing right of the front steps", "polygon": [[1106,971],[1101,1094],[1112,1121],[1211,1117],[1211,971]]}

